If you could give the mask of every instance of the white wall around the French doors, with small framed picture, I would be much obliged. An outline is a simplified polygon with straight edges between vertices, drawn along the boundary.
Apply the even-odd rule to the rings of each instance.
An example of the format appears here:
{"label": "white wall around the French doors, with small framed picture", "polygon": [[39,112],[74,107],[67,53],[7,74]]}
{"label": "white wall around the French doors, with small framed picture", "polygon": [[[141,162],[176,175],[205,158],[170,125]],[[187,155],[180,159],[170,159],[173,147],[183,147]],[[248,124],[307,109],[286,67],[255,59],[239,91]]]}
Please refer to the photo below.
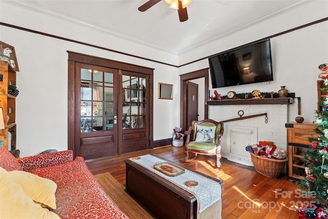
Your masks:
{"label": "white wall around the French doors, with small framed picture", "polygon": [[[160,57],[162,62],[172,64],[177,62],[175,55],[122,41],[102,32],[95,32],[92,29],[69,24],[4,2],[1,3],[0,12],[1,22],[4,23],[142,57],[152,59]],[[180,115],[179,77],[176,67],[6,26],[0,26],[0,28],[1,41],[15,47],[19,65],[16,141],[20,156],[38,154],[46,149],[67,149],[67,51],[154,68],[154,140],[172,137],[173,128],[179,124]],[[173,100],[157,98],[159,82],[173,84]]]}

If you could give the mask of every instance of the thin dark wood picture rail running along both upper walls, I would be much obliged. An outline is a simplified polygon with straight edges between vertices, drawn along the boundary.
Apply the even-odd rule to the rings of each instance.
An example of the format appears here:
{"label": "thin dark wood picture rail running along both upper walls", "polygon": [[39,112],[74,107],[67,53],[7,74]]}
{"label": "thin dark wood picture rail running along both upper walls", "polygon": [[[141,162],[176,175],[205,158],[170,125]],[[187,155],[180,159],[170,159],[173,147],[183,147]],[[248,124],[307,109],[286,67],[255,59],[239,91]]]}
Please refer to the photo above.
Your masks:
{"label": "thin dark wood picture rail running along both upper walls", "polygon": [[[285,33],[290,33],[292,31],[299,30],[299,29],[302,29],[302,28],[305,28],[305,27],[309,27],[309,26],[312,26],[312,25],[315,25],[315,24],[319,24],[319,23],[325,22],[325,21],[328,21],[328,17],[324,17],[324,18],[318,19],[317,21],[310,22],[308,24],[304,24],[304,25],[301,25],[301,26],[298,26],[298,27],[295,27],[295,28],[292,28],[292,29],[289,29],[289,30],[285,30],[285,31],[282,31],[280,33],[273,34],[271,36],[264,37],[262,39],[258,39],[257,41],[254,41],[254,42],[249,43],[249,44],[253,44],[253,43],[256,43],[256,42],[259,42],[259,41],[264,41],[265,39],[269,39],[269,38],[273,38],[273,37],[276,37],[276,36],[280,36],[280,35],[285,34]],[[190,65],[192,63],[199,62],[199,61],[201,61],[203,59],[206,59],[206,58],[209,58],[210,56],[212,56],[212,55],[209,55],[209,56],[206,56],[206,57],[203,57],[203,58],[196,59],[196,60],[194,60],[192,62],[189,62],[189,63],[185,63],[185,64],[182,64],[182,65],[176,66],[176,65],[172,65],[172,64],[168,64],[168,63],[159,62],[159,61],[156,61],[154,59],[145,58],[145,57],[141,57],[141,56],[137,56],[137,55],[132,55],[132,54],[129,54],[129,53],[120,52],[120,51],[117,51],[117,50],[112,50],[112,49],[108,49],[108,48],[105,48],[105,47],[100,47],[100,46],[96,46],[96,45],[93,45],[93,44],[88,44],[88,43],[84,43],[84,42],[80,42],[80,41],[75,41],[73,39],[69,39],[69,38],[65,38],[65,37],[61,37],[61,36],[56,36],[56,35],[52,35],[52,34],[40,32],[40,31],[36,31],[36,30],[31,30],[31,29],[27,29],[27,28],[15,26],[15,25],[3,23],[3,22],[0,22],[0,25],[6,26],[6,27],[10,27],[10,28],[14,28],[14,29],[18,29],[18,30],[23,30],[23,31],[31,32],[31,33],[35,33],[35,34],[40,34],[40,35],[44,35],[44,36],[49,36],[49,37],[61,39],[63,41],[68,41],[68,42],[77,43],[77,44],[81,44],[81,45],[85,45],[85,46],[90,46],[90,47],[94,47],[94,48],[98,48],[98,49],[103,49],[103,50],[107,50],[107,51],[110,51],[110,52],[119,53],[119,54],[122,54],[122,55],[127,55],[127,56],[131,56],[131,57],[135,57],[135,58],[140,58],[140,59],[144,59],[144,60],[147,60],[147,61],[150,61],[150,62],[154,62],[154,63],[159,63],[159,64],[163,64],[163,65],[173,66],[173,67],[177,67],[177,68],[182,67],[182,66],[186,66],[186,65]]]}

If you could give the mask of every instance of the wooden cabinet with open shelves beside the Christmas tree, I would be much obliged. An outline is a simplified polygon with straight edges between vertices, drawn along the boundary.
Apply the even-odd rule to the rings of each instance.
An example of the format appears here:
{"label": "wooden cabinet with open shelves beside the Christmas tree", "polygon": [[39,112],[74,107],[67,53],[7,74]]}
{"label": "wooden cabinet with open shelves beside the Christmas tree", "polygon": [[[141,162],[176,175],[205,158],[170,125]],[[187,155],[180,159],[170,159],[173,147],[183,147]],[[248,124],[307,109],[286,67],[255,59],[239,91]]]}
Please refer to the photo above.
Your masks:
{"label": "wooden cabinet with open shelves beside the Christmas tree", "polygon": [[288,177],[289,181],[300,181],[305,176],[306,160],[303,154],[311,150],[309,137],[318,137],[313,123],[286,123],[288,136]]}

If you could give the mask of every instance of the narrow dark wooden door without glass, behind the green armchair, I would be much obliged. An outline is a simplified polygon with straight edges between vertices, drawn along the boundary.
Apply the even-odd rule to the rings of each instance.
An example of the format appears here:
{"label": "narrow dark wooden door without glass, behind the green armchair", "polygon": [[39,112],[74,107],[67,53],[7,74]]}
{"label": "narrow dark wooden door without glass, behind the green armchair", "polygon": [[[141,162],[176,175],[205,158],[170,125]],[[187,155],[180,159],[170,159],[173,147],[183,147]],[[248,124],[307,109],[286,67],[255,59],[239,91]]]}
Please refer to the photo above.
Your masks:
{"label": "narrow dark wooden door without glass, behind the green armchair", "polygon": [[187,125],[191,126],[192,121],[198,121],[198,85],[192,82],[187,83]]}

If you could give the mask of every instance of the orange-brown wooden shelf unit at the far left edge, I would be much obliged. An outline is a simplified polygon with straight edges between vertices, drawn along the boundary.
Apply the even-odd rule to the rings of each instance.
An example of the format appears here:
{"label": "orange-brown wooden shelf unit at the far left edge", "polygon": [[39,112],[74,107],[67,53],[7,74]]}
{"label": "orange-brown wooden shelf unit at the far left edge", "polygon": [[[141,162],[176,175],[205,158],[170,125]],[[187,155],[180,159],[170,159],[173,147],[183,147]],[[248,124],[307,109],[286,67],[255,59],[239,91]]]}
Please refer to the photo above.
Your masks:
{"label": "orange-brown wooden shelf unit at the far left edge", "polygon": [[[8,85],[16,85],[16,72],[7,63],[0,61],[0,107],[3,112],[4,129],[0,129],[0,141],[3,141],[4,148],[19,157],[19,150],[16,150],[16,97],[8,94]],[[10,91],[10,90],[9,90]]]}

